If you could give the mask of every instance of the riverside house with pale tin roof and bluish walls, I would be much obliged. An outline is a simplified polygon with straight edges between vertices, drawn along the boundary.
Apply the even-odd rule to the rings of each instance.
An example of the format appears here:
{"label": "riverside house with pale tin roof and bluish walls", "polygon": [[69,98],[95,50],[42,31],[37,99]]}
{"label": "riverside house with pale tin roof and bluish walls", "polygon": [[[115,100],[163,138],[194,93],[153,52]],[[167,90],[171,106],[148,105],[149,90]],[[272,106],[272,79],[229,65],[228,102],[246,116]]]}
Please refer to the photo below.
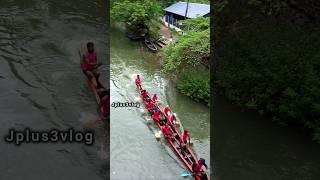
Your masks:
{"label": "riverside house with pale tin roof and bluish walls", "polygon": [[162,18],[164,24],[181,31],[179,20],[192,19],[197,17],[209,17],[210,5],[200,3],[177,2],[164,9],[165,15]]}

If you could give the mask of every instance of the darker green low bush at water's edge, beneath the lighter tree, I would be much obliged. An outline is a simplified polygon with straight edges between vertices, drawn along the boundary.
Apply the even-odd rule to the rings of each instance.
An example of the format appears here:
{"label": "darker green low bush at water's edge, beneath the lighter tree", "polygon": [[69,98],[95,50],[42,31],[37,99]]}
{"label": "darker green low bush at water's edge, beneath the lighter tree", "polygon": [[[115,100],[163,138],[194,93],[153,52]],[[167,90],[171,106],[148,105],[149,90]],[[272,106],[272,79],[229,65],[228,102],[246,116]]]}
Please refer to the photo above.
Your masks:
{"label": "darker green low bush at water's edge, beneath the lighter tree", "polygon": [[184,71],[177,83],[178,90],[196,101],[210,102],[210,75],[208,70]]}

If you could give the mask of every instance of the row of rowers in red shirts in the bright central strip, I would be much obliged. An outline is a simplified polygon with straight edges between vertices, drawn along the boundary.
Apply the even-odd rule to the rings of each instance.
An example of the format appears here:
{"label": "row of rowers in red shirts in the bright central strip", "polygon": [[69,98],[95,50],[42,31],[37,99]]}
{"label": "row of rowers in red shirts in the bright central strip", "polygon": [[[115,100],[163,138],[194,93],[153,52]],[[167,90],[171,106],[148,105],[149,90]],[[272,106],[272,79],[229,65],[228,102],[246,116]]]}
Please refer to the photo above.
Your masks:
{"label": "row of rowers in red shirts in the bright central strip", "polygon": [[[142,89],[140,76],[137,75],[135,79],[136,86],[140,89],[140,93],[143,97],[143,100],[147,102],[147,110],[152,115],[152,118],[160,124],[160,128],[166,138],[174,138],[176,133],[172,131],[173,124],[178,124],[175,113],[172,113],[169,106],[165,106],[162,111],[160,111],[158,106],[157,95],[154,94],[151,99],[149,93]],[[169,118],[168,118],[169,117]],[[181,154],[186,158],[187,146],[190,144],[190,135],[187,129],[184,129],[182,133],[182,138],[180,139],[180,150]],[[202,166],[207,168],[205,160],[200,158],[198,162],[194,163],[192,169],[195,173],[201,172]]]}

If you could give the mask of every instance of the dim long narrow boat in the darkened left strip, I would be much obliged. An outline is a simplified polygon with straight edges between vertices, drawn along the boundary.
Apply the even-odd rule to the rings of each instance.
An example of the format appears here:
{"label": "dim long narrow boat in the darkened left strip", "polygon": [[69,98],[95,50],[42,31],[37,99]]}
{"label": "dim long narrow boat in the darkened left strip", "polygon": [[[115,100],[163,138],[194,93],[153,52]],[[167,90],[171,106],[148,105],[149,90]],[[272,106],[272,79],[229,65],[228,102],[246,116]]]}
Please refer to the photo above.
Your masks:
{"label": "dim long narrow boat in the darkened left strip", "polygon": [[[80,64],[81,64],[81,58],[82,58],[82,53],[79,51],[79,56],[80,56]],[[97,79],[97,88],[95,88],[94,84],[87,78],[87,82],[88,82],[88,85],[93,93],[93,95],[95,96],[96,98],[96,101],[97,101],[97,104],[99,105],[100,102],[101,102],[101,99],[105,96],[105,95],[108,95],[106,94],[107,91],[106,91],[106,88],[104,87],[104,85],[101,83],[100,79]],[[98,93],[98,90],[97,89],[103,89],[103,93]],[[103,114],[103,106],[101,106],[99,108],[99,112],[100,114]],[[107,122],[107,119],[104,118],[104,117],[101,117],[105,127],[108,126],[108,122]]]}

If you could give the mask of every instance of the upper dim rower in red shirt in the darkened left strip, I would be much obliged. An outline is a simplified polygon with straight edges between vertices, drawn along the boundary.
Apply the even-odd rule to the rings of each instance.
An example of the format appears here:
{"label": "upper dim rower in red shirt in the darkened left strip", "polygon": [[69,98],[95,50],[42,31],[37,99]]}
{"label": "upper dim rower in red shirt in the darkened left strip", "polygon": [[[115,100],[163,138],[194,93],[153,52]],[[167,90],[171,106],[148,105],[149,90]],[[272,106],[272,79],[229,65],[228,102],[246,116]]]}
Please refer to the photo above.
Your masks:
{"label": "upper dim rower in red shirt in the darkened left strip", "polygon": [[87,52],[82,56],[81,67],[83,73],[97,88],[97,79],[99,74],[97,72],[97,54],[94,51],[94,44],[92,42],[87,43]]}

